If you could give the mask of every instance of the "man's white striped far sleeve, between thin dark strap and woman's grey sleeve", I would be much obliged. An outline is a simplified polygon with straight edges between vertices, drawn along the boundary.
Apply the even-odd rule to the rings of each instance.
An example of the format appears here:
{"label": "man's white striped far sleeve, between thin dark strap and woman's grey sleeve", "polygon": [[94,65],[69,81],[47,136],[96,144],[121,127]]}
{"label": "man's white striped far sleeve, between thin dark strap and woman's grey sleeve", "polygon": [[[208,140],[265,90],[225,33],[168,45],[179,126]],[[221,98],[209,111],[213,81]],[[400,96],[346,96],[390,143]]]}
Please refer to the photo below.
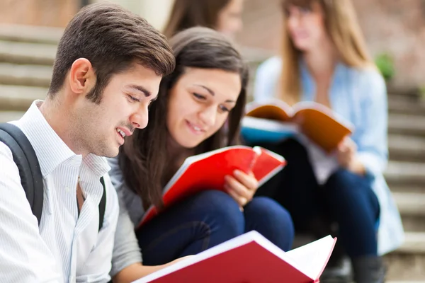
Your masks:
{"label": "man's white striped far sleeve, between thin dark strap and woman's grey sleeve", "polygon": [[84,268],[77,275],[77,282],[110,282],[111,258],[119,207],[118,197],[109,175],[103,176],[106,185],[106,209],[103,226],[98,232],[96,246],[87,258]]}

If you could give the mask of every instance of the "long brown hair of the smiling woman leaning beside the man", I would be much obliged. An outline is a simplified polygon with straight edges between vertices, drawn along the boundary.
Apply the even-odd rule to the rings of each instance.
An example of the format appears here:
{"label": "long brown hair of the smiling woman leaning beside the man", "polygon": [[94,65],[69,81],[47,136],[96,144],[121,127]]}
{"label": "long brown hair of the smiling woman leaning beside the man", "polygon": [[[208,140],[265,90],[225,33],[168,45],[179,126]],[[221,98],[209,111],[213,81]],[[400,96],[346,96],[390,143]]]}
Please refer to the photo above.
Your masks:
{"label": "long brown hair of the smiling woman leaning beside the man", "polygon": [[170,89],[185,69],[193,67],[232,71],[240,74],[242,82],[237,103],[229,112],[228,129],[222,127],[199,144],[195,149],[196,154],[237,143],[239,124],[246,103],[248,68],[241,54],[225,35],[209,28],[189,28],[172,37],[170,45],[176,57],[176,69],[161,81],[157,101],[149,110],[149,124],[145,129],[136,129],[134,134],[125,140],[119,158],[125,183],[130,190],[142,197],[145,209],[150,204],[162,207],[164,174],[169,165],[167,102]]}

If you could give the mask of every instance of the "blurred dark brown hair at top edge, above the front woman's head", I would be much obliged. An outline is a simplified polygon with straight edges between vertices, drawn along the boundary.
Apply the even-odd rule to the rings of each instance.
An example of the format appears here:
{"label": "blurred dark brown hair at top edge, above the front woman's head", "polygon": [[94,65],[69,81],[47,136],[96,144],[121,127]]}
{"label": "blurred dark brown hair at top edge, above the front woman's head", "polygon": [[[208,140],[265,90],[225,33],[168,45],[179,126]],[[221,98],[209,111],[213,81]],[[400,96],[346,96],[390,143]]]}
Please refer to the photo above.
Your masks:
{"label": "blurred dark brown hair at top edge, above the front woman's head", "polygon": [[215,29],[218,13],[230,0],[175,0],[164,35],[172,37],[186,28],[203,26]]}

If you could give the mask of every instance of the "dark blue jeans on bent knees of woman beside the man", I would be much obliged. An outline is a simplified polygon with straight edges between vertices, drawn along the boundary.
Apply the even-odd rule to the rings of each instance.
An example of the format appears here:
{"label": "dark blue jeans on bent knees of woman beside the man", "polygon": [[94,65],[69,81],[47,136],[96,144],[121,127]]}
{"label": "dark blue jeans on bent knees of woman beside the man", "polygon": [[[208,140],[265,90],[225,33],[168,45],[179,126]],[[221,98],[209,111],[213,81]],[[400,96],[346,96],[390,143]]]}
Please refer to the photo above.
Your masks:
{"label": "dark blue jeans on bent knees of woman beside the man", "polygon": [[195,255],[256,230],[283,250],[293,242],[288,212],[268,197],[254,197],[244,212],[225,192],[205,190],[167,209],[136,231],[144,265]]}

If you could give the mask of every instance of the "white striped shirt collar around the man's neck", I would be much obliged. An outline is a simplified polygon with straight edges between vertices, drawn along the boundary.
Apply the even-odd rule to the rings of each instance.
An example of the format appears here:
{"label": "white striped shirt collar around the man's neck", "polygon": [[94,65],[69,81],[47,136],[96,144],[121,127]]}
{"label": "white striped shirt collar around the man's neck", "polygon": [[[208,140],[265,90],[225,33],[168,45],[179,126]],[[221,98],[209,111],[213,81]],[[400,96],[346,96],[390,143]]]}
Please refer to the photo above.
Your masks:
{"label": "white striped shirt collar around the man's neck", "polygon": [[39,107],[42,103],[42,100],[35,100],[16,125],[21,128],[33,146],[43,178],[62,163],[79,167],[82,162],[99,177],[105,175],[111,169],[106,158],[94,154],[82,158],[69,149],[40,112]]}

